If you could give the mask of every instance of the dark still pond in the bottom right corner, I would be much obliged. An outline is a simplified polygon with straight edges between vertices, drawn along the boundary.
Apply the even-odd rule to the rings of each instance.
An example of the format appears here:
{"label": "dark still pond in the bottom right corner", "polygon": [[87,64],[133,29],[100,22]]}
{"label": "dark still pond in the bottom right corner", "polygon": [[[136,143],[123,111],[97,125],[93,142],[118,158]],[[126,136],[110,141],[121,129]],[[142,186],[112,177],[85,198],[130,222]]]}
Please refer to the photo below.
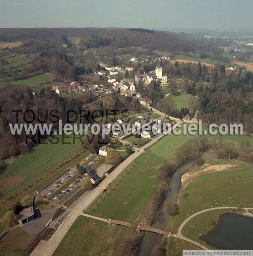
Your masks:
{"label": "dark still pond in the bottom right corner", "polygon": [[253,218],[224,213],[217,226],[199,239],[218,249],[253,250]]}

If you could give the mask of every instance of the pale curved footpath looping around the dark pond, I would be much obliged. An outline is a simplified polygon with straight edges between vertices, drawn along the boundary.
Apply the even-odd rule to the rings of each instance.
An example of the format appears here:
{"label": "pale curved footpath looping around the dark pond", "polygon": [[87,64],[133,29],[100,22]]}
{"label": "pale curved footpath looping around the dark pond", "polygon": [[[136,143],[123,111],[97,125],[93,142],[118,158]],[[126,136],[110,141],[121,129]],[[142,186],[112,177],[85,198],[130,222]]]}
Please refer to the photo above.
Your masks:
{"label": "pale curved footpath looping around the dark pond", "polygon": [[182,234],[182,229],[183,227],[186,225],[186,223],[191,220],[192,218],[194,218],[195,216],[199,215],[199,214],[202,214],[203,212],[209,212],[209,211],[213,211],[213,210],[218,210],[218,209],[243,209],[245,210],[246,212],[243,213],[243,215],[246,215],[246,216],[251,216],[253,217],[253,214],[248,212],[248,210],[252,210],[253,208],[239,208],[239,207],[229,207],[229,206],[221,206],[221,207],[215,207],[215,208],[209,208],[209,209],[205,209],[205,210],[202,210],[202,211],[199,211],[199,212],[196,212],[194,213],[193,215],[189,216],[186,220],[183,221],[183,223],[180,225],[180,227],[178,228],[178,233],[173,235],[173,237],[177,237],[179,239],[183,239],[183,240],[186,240],[188,242],[191,242],[199,247],[201,247],[202,249],[204,250],[208,250],[208,248],[206,248],[204,245],[194,241],[194,240],[191,240],[191,239],[188,239],[187,237],[185,237],[183,234]]}

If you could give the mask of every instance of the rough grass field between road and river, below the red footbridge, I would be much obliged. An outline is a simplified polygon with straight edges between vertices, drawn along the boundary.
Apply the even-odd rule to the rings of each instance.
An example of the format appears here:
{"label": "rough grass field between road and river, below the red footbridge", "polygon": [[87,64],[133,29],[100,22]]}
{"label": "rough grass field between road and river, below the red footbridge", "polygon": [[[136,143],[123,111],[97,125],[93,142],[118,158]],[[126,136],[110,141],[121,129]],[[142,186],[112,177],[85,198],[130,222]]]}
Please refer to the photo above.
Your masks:
{"label": "rough grass field between road and river, below the red footbridge", "polygon": [[[133,232],[130,228],[110,226],[108,223],[79,216],[54,252],[56,256],[68,255],[122,255],[116,252],[121,236]],[[75,238],[75,239],[73,239]],[[126,240],[124,240],[126,242]],[[123,243],[123,241],[122,241]],[[114,254],[112,253],[114,252]]]}

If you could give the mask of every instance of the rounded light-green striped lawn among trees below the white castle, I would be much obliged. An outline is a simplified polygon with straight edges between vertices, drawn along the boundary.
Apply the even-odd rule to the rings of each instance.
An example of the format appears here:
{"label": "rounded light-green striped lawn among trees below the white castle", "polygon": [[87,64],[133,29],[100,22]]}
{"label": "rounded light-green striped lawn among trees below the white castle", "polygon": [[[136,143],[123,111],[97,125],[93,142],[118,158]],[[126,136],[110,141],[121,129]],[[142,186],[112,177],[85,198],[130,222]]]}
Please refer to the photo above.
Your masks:
{"label": "rounded light-green striped lawn among trees below the white castle", "polygon": [[189,110],[192,110],[197,98],[191,94],[185,94],[182,91],[178,91],[175,95],[170,94],[165,98],[166,102],[169,100],[172,100],[175,104],[175,109],[180,111],[182,107],[187,107]]}

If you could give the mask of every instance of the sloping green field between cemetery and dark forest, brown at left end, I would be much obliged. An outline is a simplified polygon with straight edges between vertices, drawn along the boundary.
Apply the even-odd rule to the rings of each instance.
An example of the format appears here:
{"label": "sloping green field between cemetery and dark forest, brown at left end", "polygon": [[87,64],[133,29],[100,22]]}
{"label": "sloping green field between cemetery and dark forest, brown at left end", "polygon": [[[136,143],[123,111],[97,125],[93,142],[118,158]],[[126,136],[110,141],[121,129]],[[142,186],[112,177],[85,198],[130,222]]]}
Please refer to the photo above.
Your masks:
{"label": "sloping green field between cemetery and dark forest, brown at left end", "polygon": [[[31,179],[57,162],[81,150],[81,141],[77,139],[74,144],[73,134],[70,136],[57,135],[55,137],[55,139],[51,139],[55,144],[50,143],[50,139],[44,141],[46,144],[42,143],[32,149],[31,152],[18,157],[0,174],[0,193]],[[58,143],[56,143],[57,138],[59,139]]]}

